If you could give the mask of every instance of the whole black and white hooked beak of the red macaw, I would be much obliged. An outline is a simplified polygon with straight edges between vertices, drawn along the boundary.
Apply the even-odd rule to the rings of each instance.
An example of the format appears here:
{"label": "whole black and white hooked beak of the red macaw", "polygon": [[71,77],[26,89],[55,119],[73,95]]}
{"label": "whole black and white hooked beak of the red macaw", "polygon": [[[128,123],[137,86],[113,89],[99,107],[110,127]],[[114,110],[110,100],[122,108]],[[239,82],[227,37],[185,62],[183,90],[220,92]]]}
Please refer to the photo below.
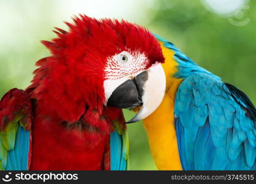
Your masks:
{"label": "whole black and white hooked beak of the red macaw", "polygon": [[157,109],[165,95],[165,87],[165,72],[161,64],[156,64],[118,86],[109,97],[107,106],[122,109],[142,106],[135,117],[126,122],[134,123]]}

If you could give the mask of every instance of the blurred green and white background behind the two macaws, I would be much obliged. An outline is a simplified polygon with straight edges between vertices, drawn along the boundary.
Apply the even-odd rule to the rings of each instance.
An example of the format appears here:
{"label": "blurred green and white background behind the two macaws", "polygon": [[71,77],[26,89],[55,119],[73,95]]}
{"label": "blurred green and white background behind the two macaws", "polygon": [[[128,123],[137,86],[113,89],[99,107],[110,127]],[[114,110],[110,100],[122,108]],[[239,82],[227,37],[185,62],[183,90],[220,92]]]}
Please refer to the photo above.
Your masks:
{"label": "blurred green and white background behind the two macaws", "polygon": [[[29,85],[34,63],[49,55],[39,40],[55,37],[53,27],[66,29],[63,21],[78,13],[149,28],[256,104],[256,1],[245,0],[0,0],[0,97]],[[142,123],[128,131],[130,169],[156,169]]]}

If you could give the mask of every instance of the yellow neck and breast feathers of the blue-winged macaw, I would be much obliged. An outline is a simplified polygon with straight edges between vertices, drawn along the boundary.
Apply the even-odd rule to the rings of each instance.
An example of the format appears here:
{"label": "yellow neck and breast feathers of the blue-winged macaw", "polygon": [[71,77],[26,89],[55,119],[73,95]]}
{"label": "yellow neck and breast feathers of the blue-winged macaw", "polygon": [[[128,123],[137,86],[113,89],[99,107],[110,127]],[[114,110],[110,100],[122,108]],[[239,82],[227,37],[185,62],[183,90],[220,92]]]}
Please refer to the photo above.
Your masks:
{"label": "yellow neck and breast feathers of the blue-winged macaw", "polygon": [[174,52],[161,44],[165,63],[162,64],[166,75],[166,94],[155,112],[143,120],[147,131],[150,151],[159,170],[182,170],[177,147],[174,125],[174,98],[182,82],[173,75],[177,72]]}

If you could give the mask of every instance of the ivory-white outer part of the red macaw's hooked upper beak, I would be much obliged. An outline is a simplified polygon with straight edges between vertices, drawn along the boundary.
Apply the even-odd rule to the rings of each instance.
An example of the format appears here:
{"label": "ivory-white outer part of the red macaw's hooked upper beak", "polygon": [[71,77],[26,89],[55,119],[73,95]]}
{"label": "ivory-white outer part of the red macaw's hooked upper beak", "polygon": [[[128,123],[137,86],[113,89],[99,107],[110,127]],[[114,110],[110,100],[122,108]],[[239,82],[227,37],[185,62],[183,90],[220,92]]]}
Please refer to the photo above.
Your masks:
{"label": "ivory-white outer part of the red macaw's hooked upper beak", "polygon": [[157,107],[161,104],[165,96],[166,78],[165,71],[160,63],[148,69],[148,79],[144,83],[142,95],[142,108],[138,114],[127,123],[134,123],[136,121],[147,118]]}

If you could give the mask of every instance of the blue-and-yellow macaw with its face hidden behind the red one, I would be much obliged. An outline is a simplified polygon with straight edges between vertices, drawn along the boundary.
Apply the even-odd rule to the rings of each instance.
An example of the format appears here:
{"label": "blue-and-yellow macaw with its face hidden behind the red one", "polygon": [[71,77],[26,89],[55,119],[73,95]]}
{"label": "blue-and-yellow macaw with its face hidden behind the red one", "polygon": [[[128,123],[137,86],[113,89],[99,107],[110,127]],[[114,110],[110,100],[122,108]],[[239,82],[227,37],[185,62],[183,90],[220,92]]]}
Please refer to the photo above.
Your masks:
{"label": "blue-and-yellow macaw with its face hidden behind the red one", "polygon": [[233,85],[156,36],[166,93],[143,120],[160,170],[255,170],[256,109]]}

